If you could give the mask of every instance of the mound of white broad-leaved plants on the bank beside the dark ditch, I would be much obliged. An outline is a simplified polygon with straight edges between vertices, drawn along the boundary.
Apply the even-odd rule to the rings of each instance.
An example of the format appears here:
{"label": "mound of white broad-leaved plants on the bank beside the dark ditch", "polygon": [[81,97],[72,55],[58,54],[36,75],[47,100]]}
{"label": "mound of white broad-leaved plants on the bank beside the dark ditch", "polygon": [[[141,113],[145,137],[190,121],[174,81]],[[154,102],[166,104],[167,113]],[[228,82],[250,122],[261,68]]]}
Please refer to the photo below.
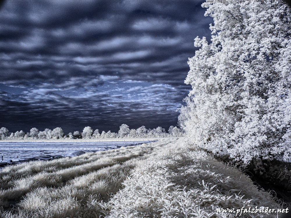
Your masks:
{"label": "mound of white broad-leaved plants on the bank beside the dark ditch", "polygon": [[[220,208],[281,208],[272,196],[255,187],[251,179],[207,156],[176,146],[137,167],[124,188],[107,203],[91,201],[103,217],[234,217]],[[280,215],[279,215],[280,216]],[[276,213],[243,213],[242,217],[277,217]]]}

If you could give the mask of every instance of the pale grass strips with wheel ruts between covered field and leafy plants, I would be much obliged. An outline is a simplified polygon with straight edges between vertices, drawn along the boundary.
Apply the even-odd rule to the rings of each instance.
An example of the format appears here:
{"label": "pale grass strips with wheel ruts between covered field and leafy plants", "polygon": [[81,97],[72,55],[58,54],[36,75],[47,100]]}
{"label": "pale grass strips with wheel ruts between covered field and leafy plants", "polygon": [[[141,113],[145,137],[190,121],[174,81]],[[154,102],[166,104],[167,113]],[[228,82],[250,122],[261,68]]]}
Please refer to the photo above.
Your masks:
{"label": "pale grass strips with wheel ruts between covered field and leafy plants", "polygon": [[0,171],[0,215],[95,217],[86,212],[87,201],[108,201],[139,162],[175,140],[5,167]]}

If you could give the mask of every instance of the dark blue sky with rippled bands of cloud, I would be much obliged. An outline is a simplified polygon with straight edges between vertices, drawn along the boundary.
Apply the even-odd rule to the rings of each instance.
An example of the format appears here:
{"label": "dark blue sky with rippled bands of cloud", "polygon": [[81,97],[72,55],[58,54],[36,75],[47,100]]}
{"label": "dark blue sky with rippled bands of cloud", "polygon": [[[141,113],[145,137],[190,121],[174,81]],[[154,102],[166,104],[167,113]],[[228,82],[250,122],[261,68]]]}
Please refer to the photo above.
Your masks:
{"label": "dark blue sky with rippled bands of cloud", "polygon": [[203,1],[6,0],[0,127],[10,132],[177,125]]}

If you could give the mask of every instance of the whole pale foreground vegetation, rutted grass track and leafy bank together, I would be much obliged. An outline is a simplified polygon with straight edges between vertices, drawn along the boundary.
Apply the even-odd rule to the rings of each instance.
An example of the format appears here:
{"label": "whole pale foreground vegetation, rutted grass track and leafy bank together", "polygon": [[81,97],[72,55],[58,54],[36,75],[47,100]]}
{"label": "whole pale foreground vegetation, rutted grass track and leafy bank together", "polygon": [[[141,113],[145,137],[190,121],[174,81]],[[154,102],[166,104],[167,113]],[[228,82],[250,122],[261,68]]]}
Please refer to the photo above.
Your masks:
{"label": "whole pale foreground vegetation, rutted grass track and leafy bank together", "polygon": [[9,166],[0,184],[4,218],[234,217],[217,209],[281,208],[238,169],[184,138]]}

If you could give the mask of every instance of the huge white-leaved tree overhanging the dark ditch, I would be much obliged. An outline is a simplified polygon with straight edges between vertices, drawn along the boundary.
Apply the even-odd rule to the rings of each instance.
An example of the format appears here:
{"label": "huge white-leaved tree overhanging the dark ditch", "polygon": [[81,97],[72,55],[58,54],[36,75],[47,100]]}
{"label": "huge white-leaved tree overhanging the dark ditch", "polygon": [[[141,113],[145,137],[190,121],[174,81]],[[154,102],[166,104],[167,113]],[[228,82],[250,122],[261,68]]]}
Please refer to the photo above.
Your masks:
{"label": "huge white-leaved tree overhanging the dark ditch", "polygon": [[189,58],[179,123],[192,141],[248,164],[291,144],[291,18],[277,0],[207,0],[212,42]]}

